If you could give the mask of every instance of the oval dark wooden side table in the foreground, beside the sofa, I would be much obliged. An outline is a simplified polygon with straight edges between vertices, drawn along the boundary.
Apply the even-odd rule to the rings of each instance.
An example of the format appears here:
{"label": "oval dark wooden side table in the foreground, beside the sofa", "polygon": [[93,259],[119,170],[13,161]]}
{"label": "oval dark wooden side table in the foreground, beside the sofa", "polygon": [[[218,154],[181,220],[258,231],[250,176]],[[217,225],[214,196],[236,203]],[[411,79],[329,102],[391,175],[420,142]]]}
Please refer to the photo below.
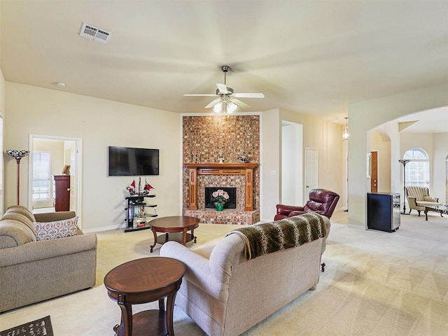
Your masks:
{"label": "oval dark wooden side table in the foreground, beside the sofa", "polygon": [[[132,260],[111,269],[104,277],[104,286],[109,297],[121,309],[121,323],[113,328],[117,335],[174,336],[174,299],[185,272],[182,262],[165,257]],[[132,315],[132,304],[156,300],[159,301],[159,310]]]}

